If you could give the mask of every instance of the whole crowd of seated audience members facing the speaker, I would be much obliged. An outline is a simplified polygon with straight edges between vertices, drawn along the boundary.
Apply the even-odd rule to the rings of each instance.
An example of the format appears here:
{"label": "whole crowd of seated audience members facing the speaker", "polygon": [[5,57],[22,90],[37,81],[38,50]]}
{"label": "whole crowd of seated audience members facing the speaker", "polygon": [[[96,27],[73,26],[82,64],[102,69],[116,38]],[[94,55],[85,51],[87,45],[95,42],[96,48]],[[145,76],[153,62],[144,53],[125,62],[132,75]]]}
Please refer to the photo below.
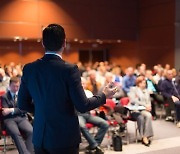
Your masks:
{"label": "whole crowd of seated audience members facing the speaker", "polygon": [[[86,64],[78,62],[78,67],[83,77],[82,84],[87,96],[91,96],[92,93],[97,94],[101,91],[102,87],[105,87],[109,82],[115,83],[118,92],[112,99],[116,101],[117,106],[115,106],[115,110],[112,113],[112,118],[119,121],[121,125],[123,124],[124,117],[126,119],[124,108],[119,106],[119,100],[121,98],[128,96],[131,105],[144,106],[144,110],[138,112],[132,111],[131,114],[131,116],[137,120],[140,137],[144,145],[149,146],[151,142],[150,137],[153,136],[152,118],[156,119],[158,117],[156,113],[157,105],[164,105],[166,109],[165,120],[176,120],[177,127],[180,128],[180,70],[176,71],[176,69],[171,68],[169,64],[166,64],[165,67],[157,64],[150,70],[146,69],[146,64],[142,63],[137,65],[136,70],[134,70],[132,66],[125,68],[126,71],[124,75],[120,66],[107,61]],[[26,145],[23,143],[24,145],[21,147],[21,144],[18,144],[17,140],[20,138],[20,142],[22,142],[22,136],[16,137],[16,134],[13,133],[17,132],[13,132],[10,127],[8,128],[7,124],[9,119],[24,118],[21,117],[22,115],[26,117],[26,113],[18,110],[16,106],[9,106],[9,103],[7,103],[7,101],[9,101],[7,100],[7,96],[9,95],[11,102],[11,94],[13,93],[11,93],[12,82],[10,82],[10,78],[21,77],[22,68],[22,64],[16,65],[14,62],[4,66],[0,64],[0,91],[6,92],[2,97],[3,107],[5,108],[3,110],[5,126],[15,141],[18,151],[26,149],[29,152],[33,150],[31,144]],[[97,111],[98,110],[99,109],[97,109]],[[174,113],[172,111],[175,111],[175,116],[172,114]],[[32,126],[29,125],[28,121],[25,122],[28,123],[28,129],[25,133],[23,132],[23,137],[24,135],[31,136]],[[85,114],[79,113],[79,122],[81,132],[89,143],[87,151],[92,152],[94,150],[103,153],[100,144],[108,129],[107,122],[97,115],[92,116],[89,112]],[[99,127],[99,131],[95,137],[93,137],[85,127],[86,122],[94,122],[93,124]],[[122,128],[123,127],[122,125]]]}

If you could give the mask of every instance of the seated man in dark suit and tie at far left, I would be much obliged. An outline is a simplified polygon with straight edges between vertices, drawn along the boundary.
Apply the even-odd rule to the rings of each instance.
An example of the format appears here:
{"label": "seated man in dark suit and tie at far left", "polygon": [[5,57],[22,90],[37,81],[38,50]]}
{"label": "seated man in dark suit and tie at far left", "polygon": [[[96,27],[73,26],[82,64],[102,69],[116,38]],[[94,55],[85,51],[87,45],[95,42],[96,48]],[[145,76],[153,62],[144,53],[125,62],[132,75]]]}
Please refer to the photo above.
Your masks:
{"label": "seated man in dark suit and tie at far left", "polygon": [[[20,80],[12,77],[9,83],[9,90],[2,96],[2,115],[4,126],[15,142],[20,154],[32,154],[32,125],[27,120],[26,113],[17,108],[17,92]],[[21,133],[23,136],[21,136]],[[25,138],[25,141],[23,139]]]}

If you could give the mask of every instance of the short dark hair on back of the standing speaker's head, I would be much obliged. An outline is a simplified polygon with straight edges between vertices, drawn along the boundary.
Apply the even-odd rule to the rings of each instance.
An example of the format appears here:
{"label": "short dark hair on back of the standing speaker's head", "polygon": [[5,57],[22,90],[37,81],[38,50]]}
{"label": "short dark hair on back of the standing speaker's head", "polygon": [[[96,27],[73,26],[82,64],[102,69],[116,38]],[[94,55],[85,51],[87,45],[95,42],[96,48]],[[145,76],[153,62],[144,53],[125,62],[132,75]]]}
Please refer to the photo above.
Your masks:
{"label": "short dark hair on back of the standing speaker's head", "polygon": [[50,24],[43,30],[42,39],[46,51],[59,51],[65,38],[64,28],[58,24]]}

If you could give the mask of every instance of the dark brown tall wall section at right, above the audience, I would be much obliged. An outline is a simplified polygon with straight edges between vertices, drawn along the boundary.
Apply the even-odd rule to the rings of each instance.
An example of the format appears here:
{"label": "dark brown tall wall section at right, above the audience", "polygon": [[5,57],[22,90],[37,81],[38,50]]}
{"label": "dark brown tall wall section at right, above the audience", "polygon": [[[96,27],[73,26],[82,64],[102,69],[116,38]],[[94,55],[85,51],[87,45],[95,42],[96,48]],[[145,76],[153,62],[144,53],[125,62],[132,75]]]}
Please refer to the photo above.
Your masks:
{"label": "dark brown tall wall section at right, above the audience", "polygon": [[174,66],[174,0],[140,0],[139,56],[148,66]]}

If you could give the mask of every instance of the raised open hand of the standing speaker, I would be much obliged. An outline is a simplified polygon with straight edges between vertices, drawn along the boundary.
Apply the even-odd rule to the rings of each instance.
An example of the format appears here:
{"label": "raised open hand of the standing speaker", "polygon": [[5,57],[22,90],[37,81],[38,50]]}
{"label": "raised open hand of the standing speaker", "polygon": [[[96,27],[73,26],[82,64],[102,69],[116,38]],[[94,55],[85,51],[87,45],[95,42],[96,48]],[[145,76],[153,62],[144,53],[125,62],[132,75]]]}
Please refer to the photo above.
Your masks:
{"label": "raised open hand of the standing speaker", "polygon": [[114,83],[109,83],[104,89],[103,93],[106,95],[106,98],[112,98],[112,96],[118,91],[117,87],[114,86]]}

